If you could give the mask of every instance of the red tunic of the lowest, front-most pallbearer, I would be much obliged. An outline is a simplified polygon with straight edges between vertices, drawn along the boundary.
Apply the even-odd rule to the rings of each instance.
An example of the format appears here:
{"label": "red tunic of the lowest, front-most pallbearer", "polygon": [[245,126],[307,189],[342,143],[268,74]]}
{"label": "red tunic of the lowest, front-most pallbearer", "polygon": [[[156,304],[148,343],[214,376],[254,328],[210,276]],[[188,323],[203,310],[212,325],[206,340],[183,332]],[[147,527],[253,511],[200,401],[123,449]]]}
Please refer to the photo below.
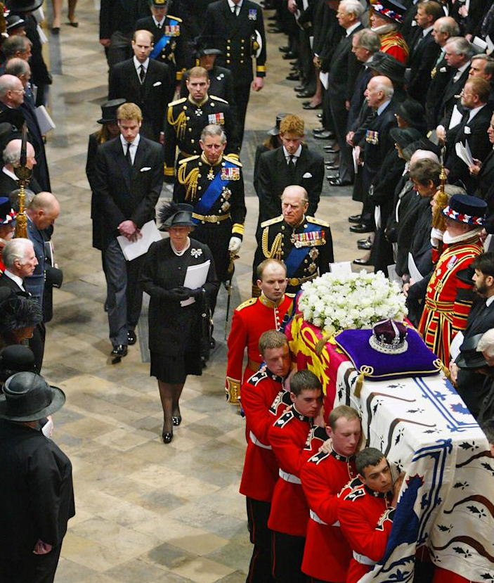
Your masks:
{"label": "red tunic of the lowest, front-most pallbearer", "polygon": [[393,525],[391,499],[391,493],[373,492],[363,484],[342,499],[339,525],[353,551],[346,583],[356,583],[384,556]]}

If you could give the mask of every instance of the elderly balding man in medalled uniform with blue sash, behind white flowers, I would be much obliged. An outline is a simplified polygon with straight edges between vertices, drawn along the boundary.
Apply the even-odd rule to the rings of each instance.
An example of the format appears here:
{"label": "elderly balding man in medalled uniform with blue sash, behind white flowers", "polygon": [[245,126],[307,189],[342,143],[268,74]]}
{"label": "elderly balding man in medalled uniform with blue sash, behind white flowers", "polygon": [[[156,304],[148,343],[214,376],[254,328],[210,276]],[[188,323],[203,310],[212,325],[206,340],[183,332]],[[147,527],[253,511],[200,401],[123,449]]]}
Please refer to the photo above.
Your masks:
{"label": "elderly balding man in medalled uniform with blue sash, behind white flowers", "polygon": [[287,186],[281,196],[281,216],[261,223],[254,256],[254,285],[257,266],[270,258],[285,262],[288,293],[297,293],[302,283],[330,271],[334,261],[330,225],[307,217],[307,208],[306,189]]}

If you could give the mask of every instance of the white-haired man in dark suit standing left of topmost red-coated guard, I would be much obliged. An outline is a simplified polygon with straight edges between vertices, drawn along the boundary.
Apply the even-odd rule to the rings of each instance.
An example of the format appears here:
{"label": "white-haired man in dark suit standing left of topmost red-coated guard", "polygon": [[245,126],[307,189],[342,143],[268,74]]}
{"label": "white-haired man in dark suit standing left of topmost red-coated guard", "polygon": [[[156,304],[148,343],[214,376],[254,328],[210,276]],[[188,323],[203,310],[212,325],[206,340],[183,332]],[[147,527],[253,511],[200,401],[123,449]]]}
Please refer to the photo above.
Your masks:
{"label": "white-haired man in dark suit standing left of topmost red-coated guard", "polygon": [[346,143],[346,124],[350,101],[355,89],[356,77],[361,68],[360,61],[352,49],[353,34],[363,30],[360,16],[363,6],[358,0],[342,0],[337,19],[345,35],[334,49],[331,60],[327,91],[329,94],[334,131],[339,146],[339,175],[330,179],[331,186],[347,186],[353,183],[353,159],[351,147]]}

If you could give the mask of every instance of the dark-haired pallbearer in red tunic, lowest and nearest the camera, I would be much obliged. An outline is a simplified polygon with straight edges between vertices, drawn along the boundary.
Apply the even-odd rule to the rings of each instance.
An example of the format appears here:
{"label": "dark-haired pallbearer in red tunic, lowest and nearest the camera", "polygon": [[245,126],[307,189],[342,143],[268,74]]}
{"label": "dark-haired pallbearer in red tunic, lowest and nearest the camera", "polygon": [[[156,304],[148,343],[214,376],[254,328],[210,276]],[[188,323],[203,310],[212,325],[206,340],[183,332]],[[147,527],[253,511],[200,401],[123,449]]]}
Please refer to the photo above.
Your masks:
{"label": "dark-haired pallbearer in red tunic, lowest and nearest the camera", "polygon": [[356,457],[360,485],[346,494],[338,509],[339,525],[352,550],[346,583],[356,583],[386,551],[403,475],[393,484],[391,468],[375,447]]}

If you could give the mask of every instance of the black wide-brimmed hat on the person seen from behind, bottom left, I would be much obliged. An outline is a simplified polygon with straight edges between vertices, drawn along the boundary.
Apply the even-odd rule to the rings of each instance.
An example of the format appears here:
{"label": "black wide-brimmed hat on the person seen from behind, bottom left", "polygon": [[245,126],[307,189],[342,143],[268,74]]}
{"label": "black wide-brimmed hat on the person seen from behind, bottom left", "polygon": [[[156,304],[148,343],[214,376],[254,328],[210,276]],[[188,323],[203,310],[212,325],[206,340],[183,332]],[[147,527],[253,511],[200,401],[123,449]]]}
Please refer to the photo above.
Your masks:
{"label": "black wide-brimmed hat on the person seen from behind, bottom left", "polygon": [[46,383],[41,375],[31,372],[15,373],[4,384],[0,395],[0,419],[8,421],[37,421],[65,403],[65,394]]}

